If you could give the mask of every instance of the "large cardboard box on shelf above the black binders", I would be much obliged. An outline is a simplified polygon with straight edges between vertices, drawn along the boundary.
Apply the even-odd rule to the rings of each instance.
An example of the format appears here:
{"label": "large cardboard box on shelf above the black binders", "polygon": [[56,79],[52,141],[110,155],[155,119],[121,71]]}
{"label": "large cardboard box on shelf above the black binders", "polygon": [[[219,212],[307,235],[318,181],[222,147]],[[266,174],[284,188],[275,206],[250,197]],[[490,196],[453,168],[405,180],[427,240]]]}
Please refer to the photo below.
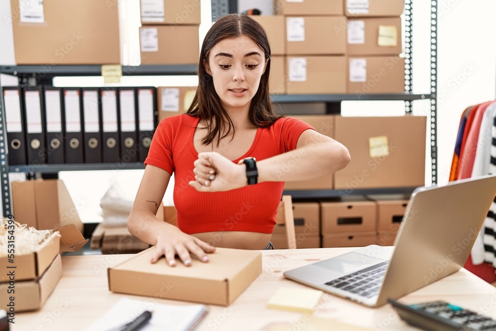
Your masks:
{"label": "large cardboard box on shelf above the black binders", "polygon": [[121,63],[117,1],[45,0],[44,23],[21,23],[19,0],[10,6],[18,65]]}

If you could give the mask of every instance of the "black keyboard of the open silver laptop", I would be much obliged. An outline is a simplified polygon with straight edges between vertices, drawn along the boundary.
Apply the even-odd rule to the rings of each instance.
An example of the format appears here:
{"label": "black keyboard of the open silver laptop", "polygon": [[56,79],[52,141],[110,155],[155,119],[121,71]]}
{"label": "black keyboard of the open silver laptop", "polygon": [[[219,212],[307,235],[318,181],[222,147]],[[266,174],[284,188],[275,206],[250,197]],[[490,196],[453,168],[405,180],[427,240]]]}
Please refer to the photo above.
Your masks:
{"label": "black keyboard of the open silver laptop", "polygon": [[326,285],[371,298],[379,293],[389,261],[331,280]]}

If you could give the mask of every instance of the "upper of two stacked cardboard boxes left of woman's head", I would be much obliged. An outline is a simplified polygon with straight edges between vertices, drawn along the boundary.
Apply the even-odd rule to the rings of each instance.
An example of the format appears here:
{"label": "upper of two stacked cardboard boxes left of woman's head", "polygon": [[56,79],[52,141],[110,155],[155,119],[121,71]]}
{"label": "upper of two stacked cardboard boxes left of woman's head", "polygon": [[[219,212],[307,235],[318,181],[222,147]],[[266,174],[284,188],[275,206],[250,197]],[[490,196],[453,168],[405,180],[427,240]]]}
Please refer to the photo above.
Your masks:
{"label": "upper of two stacked cardboard boxes left of woman's head", "polygon": [[141,24],[200,25],[200,0],[140,1]]}

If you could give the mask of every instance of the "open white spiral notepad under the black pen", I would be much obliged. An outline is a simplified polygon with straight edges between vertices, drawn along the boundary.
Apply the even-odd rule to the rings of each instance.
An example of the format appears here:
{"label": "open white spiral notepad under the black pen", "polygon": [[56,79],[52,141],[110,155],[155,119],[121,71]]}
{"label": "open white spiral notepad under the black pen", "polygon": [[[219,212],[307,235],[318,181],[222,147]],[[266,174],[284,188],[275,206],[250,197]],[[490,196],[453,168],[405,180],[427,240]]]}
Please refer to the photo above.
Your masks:
{"label": "open white spiral notepad under the black pen", "polygon": [[96,320],[85,331],[114,330],[134,320],[143,311],[152,311],[152,318],[140,331],[186,331],[198,319],[201,320],[205,305],[166,305],[151,300],[122,298],[105,315]]}

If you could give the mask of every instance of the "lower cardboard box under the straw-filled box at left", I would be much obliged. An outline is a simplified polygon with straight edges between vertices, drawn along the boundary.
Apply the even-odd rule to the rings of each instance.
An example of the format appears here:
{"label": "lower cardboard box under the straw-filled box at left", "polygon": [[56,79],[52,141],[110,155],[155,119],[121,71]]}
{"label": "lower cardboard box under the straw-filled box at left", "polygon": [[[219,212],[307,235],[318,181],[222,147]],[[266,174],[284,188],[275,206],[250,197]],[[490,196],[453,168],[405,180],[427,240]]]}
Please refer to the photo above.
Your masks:
{"label": "lower cardboard box under the straw-filled box at left", "polygon": [[8,283],[0,284],[0,304],[7,307],[10,296],[14,296],[15,312],[38,310],[43,307],[62,277],[62,259],[57,255],[50,261],[49,268],[36,280],[18,281],[16,277],[15,293],[7,293]]}

